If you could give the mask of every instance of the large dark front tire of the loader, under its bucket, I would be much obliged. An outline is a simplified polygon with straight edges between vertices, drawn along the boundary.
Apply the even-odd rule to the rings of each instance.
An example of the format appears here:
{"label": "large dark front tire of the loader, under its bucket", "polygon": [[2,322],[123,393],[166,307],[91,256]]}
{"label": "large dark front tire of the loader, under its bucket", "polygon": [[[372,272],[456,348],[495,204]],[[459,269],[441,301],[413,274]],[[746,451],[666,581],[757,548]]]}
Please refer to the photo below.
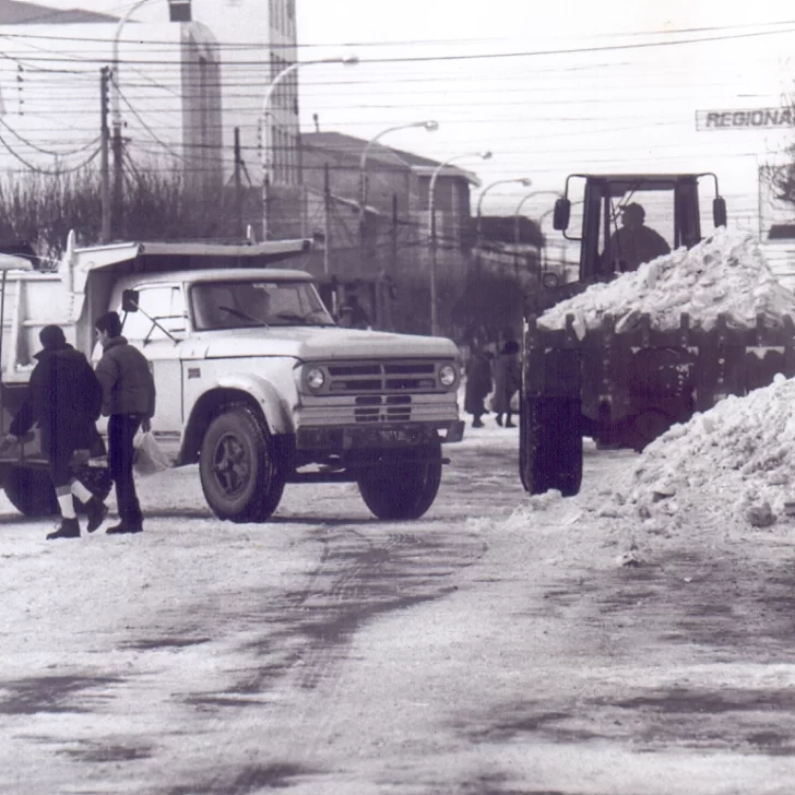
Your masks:
{"label": "large dark front tire of the loader, under its bucket", "polygon": [[520,414],[519,474],[530,494],[582,484],[582,426],[577,397],[525,397]]}

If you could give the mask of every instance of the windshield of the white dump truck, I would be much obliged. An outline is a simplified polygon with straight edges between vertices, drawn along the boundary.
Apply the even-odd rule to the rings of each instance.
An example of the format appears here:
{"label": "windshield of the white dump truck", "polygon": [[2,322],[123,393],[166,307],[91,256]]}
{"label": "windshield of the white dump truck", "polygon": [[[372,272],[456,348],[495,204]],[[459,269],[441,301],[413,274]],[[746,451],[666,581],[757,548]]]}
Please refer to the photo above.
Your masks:
{"label": "windshield of the white dump truck", "polygon": [[271,325],[336,325],[310,282],[235,281],[190,289],[198,331]]}

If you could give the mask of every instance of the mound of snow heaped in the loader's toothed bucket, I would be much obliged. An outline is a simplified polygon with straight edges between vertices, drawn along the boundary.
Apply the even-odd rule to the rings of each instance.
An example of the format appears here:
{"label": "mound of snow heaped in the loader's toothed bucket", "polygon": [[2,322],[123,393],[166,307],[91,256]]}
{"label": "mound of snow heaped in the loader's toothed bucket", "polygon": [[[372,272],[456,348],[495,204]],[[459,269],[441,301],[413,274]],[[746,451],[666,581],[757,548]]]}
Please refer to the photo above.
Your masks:
{"label": "mound of snow heaped in the loader's toothed bucket", "polygon": [[776,280],[751,236],[721,227],[692,249],[677,249],[613,282],[591,285],[544,312],[538,325],[562,329],[566,316],[573,315],[582,335],[612,313],[620,332],[649,313],[653,328],[667,330],[679,327],[683,312],[692,328],[705,330],[714,328],[721,313],[733,327],[752,327],[760,313],[774,324],[795,312],[795,293]]}

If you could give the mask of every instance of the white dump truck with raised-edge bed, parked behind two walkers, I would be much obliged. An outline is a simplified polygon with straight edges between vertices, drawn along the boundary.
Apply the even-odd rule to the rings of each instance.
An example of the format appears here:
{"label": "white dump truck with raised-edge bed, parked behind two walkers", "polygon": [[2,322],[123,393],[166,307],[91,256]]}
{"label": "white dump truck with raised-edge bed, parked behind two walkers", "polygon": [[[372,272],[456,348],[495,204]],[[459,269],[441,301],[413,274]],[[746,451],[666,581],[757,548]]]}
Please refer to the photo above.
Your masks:
{"label": "white dump truck with raised-edge bed, parked behind two walkers", "polygon": [[[432,505],[442,442],[460,441],[458,348],[450,340],[340,328],[312,277],[274,268],[304,240],[116,242],[78,248],[58,270],[3,275],[2,431],[24,395],[38,332],[61,325],[90,359],[108,310],[146,356],[157,389],[156,436],[176,465],[199,464],[221,519],[263,522],[287,483],[355,482],[381,519]],[[87,459],[87,456],[84,456]],[[95,493],[107,471],[75,461]],[[0,451],[0,478],[24,514],[54,512],[34,431]]]}

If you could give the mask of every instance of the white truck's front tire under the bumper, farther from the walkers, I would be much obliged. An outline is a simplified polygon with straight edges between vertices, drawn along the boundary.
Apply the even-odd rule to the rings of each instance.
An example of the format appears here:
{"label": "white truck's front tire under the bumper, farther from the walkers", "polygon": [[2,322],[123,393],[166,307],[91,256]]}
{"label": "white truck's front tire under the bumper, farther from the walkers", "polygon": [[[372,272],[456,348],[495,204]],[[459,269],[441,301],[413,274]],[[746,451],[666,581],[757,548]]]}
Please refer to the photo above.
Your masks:
{"label": "white truck's front tire under the bumper, farther from the walkers", "polygon": [[418,450],[383,450],[357,478],[365,505],[379,519],[419,519],[441,484],[441,443]]}

